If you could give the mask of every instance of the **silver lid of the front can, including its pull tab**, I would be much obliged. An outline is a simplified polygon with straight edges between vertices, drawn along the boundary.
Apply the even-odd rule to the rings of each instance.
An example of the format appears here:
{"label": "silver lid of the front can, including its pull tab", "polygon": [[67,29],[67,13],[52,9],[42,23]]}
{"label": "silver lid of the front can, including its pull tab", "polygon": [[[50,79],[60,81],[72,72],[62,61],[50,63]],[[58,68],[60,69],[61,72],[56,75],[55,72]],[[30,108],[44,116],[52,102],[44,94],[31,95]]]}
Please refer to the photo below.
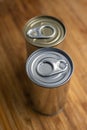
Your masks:
{"label": "silver lid of the front can, including its pull tab", "polygon": [[26,72],[39,86],[53,88],[65,84],[70,79],[73,63],[62,50],[42,48],[29,56]]}

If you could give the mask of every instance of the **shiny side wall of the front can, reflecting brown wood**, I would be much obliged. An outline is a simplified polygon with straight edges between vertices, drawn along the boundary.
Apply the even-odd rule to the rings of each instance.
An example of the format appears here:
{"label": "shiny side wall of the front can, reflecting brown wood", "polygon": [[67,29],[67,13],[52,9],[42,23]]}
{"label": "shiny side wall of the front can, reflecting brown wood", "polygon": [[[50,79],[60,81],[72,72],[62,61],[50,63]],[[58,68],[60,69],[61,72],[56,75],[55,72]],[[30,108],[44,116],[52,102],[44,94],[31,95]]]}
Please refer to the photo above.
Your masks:
{"label": "shiny side wall of the front can, reflecting brown wood", "polygon": [[70,82],[56,88],[44,88],[30,81],[29,98],[31,107],[45,115],[54,115],[63,110]]}

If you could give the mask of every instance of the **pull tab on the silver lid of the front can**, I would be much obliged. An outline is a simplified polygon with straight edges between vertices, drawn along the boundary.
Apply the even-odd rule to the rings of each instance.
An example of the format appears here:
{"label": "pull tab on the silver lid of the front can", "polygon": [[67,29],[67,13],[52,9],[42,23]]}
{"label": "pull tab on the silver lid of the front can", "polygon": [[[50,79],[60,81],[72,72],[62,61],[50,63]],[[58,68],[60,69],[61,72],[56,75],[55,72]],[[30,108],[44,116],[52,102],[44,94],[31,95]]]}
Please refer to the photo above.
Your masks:
{"label": "pull tab on the silver lid of the front can", "polygon": [[37,72],[41,76],[52,76],[55,74],[63,73],[67,70],[68,64],[65,60],[43,60],[37,66]]}

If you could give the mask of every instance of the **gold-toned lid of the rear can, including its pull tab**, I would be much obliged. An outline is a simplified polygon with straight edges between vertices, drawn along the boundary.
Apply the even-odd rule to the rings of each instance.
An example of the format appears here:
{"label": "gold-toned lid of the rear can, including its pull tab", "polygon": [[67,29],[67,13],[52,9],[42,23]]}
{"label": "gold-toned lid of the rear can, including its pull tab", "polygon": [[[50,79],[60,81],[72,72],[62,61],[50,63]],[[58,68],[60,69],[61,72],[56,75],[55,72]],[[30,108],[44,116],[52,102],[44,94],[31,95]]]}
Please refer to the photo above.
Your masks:
{"label": "gold-toned lid of the rear can, including its pull tab", "polygon": [[66,34],[64,24],[52,16],[37,16],[24,27],[26,40],[38,47],[51,47],[61,43]]}

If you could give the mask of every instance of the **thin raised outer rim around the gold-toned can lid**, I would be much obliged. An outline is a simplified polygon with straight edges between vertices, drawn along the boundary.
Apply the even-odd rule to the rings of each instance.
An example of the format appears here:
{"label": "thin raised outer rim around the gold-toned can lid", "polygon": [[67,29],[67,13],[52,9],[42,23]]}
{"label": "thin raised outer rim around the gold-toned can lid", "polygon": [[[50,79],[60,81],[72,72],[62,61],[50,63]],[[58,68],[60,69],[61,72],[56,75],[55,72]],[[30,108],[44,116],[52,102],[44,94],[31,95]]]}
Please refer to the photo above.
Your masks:
{"label": "thin raised outer rim around the gold-toned can lid", "polygon": [[64,22],[63,22],[62,20],[60,20],[60,19],[58,19],[58,18],[56,18],[56,17],[54,17],[54,16],[50,16],[50,15],[38,15],[38,16],[32,17],[30,20],[28,20],[28,21],[25,23],[25,25],[24,25],[24,27],[23,27],[23,34],[24,34],[24,37],[25,37],[25,39],[27,40],[27,42],[28,42],[29,44],[33,45],[33,46],[36,46],[36,47],[44,47],[43,44],[38,45],[38,44],[33,44],[33,43],[29,42],[29,39],[27,38],[27,36],[26,36],[26,31],[25,31],[26,28],[27,28],[27,26],[28,26],[28,24],[29,24],[31,21],[33,21],[34,19],[40,18],[40,17],[43,17],[43,18],[44,18],[44,17],[52,18],[52,19],[58,21],[58,22],[62,25],[62,27],[64,28],[64,37],[63,37],[59,42],[57,41],[57,42],[55,42],[54,44],[48,44],[48,45],[46,44],[45,47],[53,47],[53,46],[56,46],[56,45],[62,43],[62,41],[64,41],[64,39],[65,39],[65,37],[66,37],[66,34],[67,34],[67,29],[66,29],[66,27],[65,27],[65,24],[64,24]]}

